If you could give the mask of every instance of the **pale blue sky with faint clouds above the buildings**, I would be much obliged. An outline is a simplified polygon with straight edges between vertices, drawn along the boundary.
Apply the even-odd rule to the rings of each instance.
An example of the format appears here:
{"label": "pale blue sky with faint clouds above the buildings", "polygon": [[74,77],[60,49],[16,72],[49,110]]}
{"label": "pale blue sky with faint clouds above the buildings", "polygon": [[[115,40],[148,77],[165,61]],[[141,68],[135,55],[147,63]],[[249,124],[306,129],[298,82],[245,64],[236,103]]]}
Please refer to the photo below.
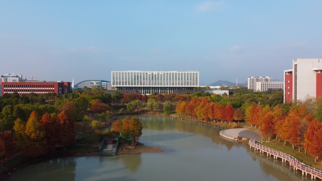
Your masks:
{"label": "pale blue sky with faint clouds above the buildings", "polygon": [[321,0],[0,1],[0,74],[110,81],[111,70],[200,71],[201,83],[283,79],[322,58]]}

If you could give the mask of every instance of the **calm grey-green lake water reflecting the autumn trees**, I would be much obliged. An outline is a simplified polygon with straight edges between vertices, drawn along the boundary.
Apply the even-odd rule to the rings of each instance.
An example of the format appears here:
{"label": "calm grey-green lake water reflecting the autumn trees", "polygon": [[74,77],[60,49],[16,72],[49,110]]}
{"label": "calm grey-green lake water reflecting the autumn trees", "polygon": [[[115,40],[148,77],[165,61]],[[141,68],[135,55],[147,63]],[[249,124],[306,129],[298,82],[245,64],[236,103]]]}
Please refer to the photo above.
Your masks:
{"label": "calm grey-green lake water reflecting the autumn trees", "polygon": [[144,128],[140,142],[164,152],[55,158],[17,170],[10,181],[302,180],[300,171],[280,160],[221,138],[223,128],[166,116],[137,117]]}

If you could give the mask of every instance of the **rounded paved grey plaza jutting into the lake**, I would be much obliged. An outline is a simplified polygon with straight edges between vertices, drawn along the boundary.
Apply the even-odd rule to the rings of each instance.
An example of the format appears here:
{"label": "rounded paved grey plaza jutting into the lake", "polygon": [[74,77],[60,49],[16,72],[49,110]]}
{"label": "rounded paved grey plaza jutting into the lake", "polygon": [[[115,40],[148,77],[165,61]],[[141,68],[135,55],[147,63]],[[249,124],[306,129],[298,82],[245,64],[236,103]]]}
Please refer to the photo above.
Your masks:
{"label": "rounded paved grey plaza jutting into the lake", "polygon": [[238,136],[244,139],[256,139],[256,141],[260,141],[263,137],[257,133],[256,131],[246,129],[246,128],[236,128],[236,129],[224,129],[219,132],[220,136],[228,139],[235,139]]}

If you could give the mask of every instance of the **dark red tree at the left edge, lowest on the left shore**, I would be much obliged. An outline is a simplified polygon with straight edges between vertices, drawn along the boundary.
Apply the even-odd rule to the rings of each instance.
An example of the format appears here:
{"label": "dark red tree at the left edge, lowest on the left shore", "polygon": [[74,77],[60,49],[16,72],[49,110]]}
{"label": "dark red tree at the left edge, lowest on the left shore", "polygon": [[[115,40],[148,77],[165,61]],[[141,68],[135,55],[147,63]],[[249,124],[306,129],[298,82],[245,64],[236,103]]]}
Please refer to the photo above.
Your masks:
{"label": "dark red tree at the left edge, lowest on the left shore", "polygon": [[16,149],[11,133],[9,131],[0,133],[0,157],[9,157]]}

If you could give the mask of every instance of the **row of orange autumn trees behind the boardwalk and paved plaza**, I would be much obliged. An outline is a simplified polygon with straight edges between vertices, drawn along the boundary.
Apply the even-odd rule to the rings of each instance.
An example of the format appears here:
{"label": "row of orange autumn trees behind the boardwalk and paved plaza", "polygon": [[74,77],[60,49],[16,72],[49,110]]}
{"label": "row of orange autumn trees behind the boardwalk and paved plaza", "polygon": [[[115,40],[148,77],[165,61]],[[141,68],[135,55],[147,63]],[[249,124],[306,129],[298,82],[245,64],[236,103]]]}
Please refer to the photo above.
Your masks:
{"label": "row of orange autumn trees behind the boardwalk and paved plaza", "polygon": [[322,157],[322,123],[310,114],[305,104],[293,105],[289,113],[277,105],[274,108],[253,104],[246,111],[245,120],[260,127],[263,134],[284,140],[305,149],[305,153]]}

